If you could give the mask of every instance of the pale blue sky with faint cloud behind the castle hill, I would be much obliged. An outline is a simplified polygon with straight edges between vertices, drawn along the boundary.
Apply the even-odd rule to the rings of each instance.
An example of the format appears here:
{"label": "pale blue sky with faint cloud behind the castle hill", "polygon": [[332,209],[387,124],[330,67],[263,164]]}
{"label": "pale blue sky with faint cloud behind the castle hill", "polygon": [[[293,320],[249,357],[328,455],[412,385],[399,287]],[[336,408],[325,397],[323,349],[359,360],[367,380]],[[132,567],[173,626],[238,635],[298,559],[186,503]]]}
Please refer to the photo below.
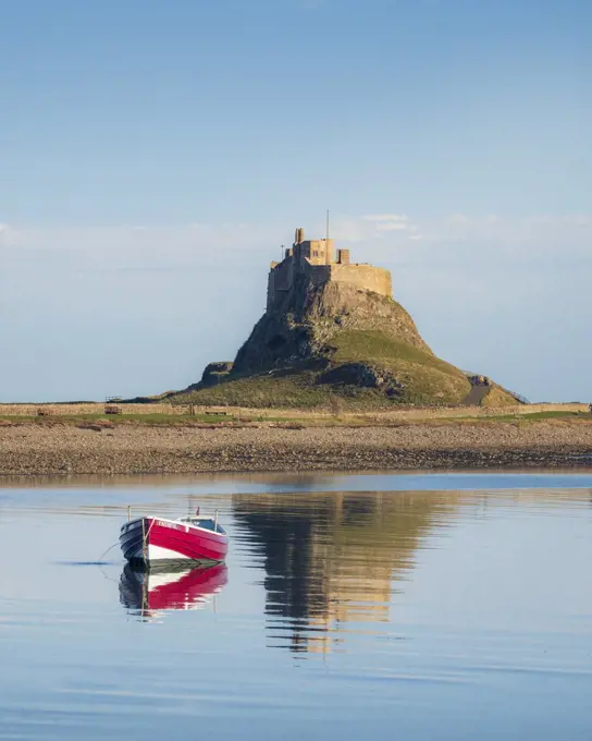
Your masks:
{"label": "pale blue sky with faint cloud behind the castle hill", "polygon": [[182,388],[294,228],[446,360],[588,400],[588,0],[0,0],[0,400]]}

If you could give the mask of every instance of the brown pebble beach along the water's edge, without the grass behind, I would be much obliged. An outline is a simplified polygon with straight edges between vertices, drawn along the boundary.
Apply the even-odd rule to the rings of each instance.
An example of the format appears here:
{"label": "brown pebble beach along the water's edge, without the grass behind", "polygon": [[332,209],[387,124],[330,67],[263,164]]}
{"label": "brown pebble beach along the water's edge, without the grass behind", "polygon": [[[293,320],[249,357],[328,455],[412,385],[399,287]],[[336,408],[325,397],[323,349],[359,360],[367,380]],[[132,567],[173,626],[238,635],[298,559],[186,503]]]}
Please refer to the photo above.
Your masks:
{"label": "brown pebble beach along the water's edge, without the grass behind", "polygon": [[99,429],[0,426],[0,475],[592,465],[587,422]]}

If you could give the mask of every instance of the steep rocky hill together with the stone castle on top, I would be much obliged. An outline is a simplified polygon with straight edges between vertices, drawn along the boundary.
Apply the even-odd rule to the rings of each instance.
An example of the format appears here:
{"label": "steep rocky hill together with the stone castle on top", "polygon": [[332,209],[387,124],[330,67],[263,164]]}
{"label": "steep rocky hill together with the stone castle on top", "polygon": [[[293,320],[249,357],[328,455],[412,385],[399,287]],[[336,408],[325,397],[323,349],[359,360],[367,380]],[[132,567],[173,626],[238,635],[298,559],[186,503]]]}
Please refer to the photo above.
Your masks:
{"label": "steep rocky hill together with the stone castle on top", "polygon": [[326,247],[324,254],[314,250],[323,243],[297,242],[282,263],[272,264],[268,311],[234,363],[210,364],[201,380],[174,400],[368,409],[460,404],[474,398],[474,385],[481,384],[482,403],[488,396],[496,405],[517,403],[489,379],[471,382],[434,355],[392,297],[387,271],[350,265],[348,254],[334,263]]}

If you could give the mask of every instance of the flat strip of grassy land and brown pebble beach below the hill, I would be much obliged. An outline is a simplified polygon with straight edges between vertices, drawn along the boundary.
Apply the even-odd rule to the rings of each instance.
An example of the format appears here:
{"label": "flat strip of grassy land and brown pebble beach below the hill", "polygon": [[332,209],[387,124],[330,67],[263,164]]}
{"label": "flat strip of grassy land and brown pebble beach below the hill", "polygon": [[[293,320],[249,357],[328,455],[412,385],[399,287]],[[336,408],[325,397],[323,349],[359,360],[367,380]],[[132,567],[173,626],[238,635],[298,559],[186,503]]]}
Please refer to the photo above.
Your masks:
{"label": "flat strip of grassy land and brown pebble beach below the hill", "polygon": [[118,406],[122,414],[110,415],[104,404],[0,404],[0,475],[592,465],[585,404],[371,413]]}

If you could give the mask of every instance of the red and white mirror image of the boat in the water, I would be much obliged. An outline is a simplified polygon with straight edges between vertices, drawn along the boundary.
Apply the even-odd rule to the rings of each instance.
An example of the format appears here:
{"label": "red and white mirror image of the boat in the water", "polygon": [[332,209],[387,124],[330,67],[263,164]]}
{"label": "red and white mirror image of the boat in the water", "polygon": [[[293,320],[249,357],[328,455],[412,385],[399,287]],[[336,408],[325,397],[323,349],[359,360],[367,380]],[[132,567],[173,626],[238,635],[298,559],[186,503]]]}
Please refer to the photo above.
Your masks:
{"label": "red and white mirror image of the boat in the water", "polygon": [[227,581],[224,563],[196,569],[148,570],[126,563],[120,579],[120,600],[127,609],[150,617],[153,610],[201,609]]}

